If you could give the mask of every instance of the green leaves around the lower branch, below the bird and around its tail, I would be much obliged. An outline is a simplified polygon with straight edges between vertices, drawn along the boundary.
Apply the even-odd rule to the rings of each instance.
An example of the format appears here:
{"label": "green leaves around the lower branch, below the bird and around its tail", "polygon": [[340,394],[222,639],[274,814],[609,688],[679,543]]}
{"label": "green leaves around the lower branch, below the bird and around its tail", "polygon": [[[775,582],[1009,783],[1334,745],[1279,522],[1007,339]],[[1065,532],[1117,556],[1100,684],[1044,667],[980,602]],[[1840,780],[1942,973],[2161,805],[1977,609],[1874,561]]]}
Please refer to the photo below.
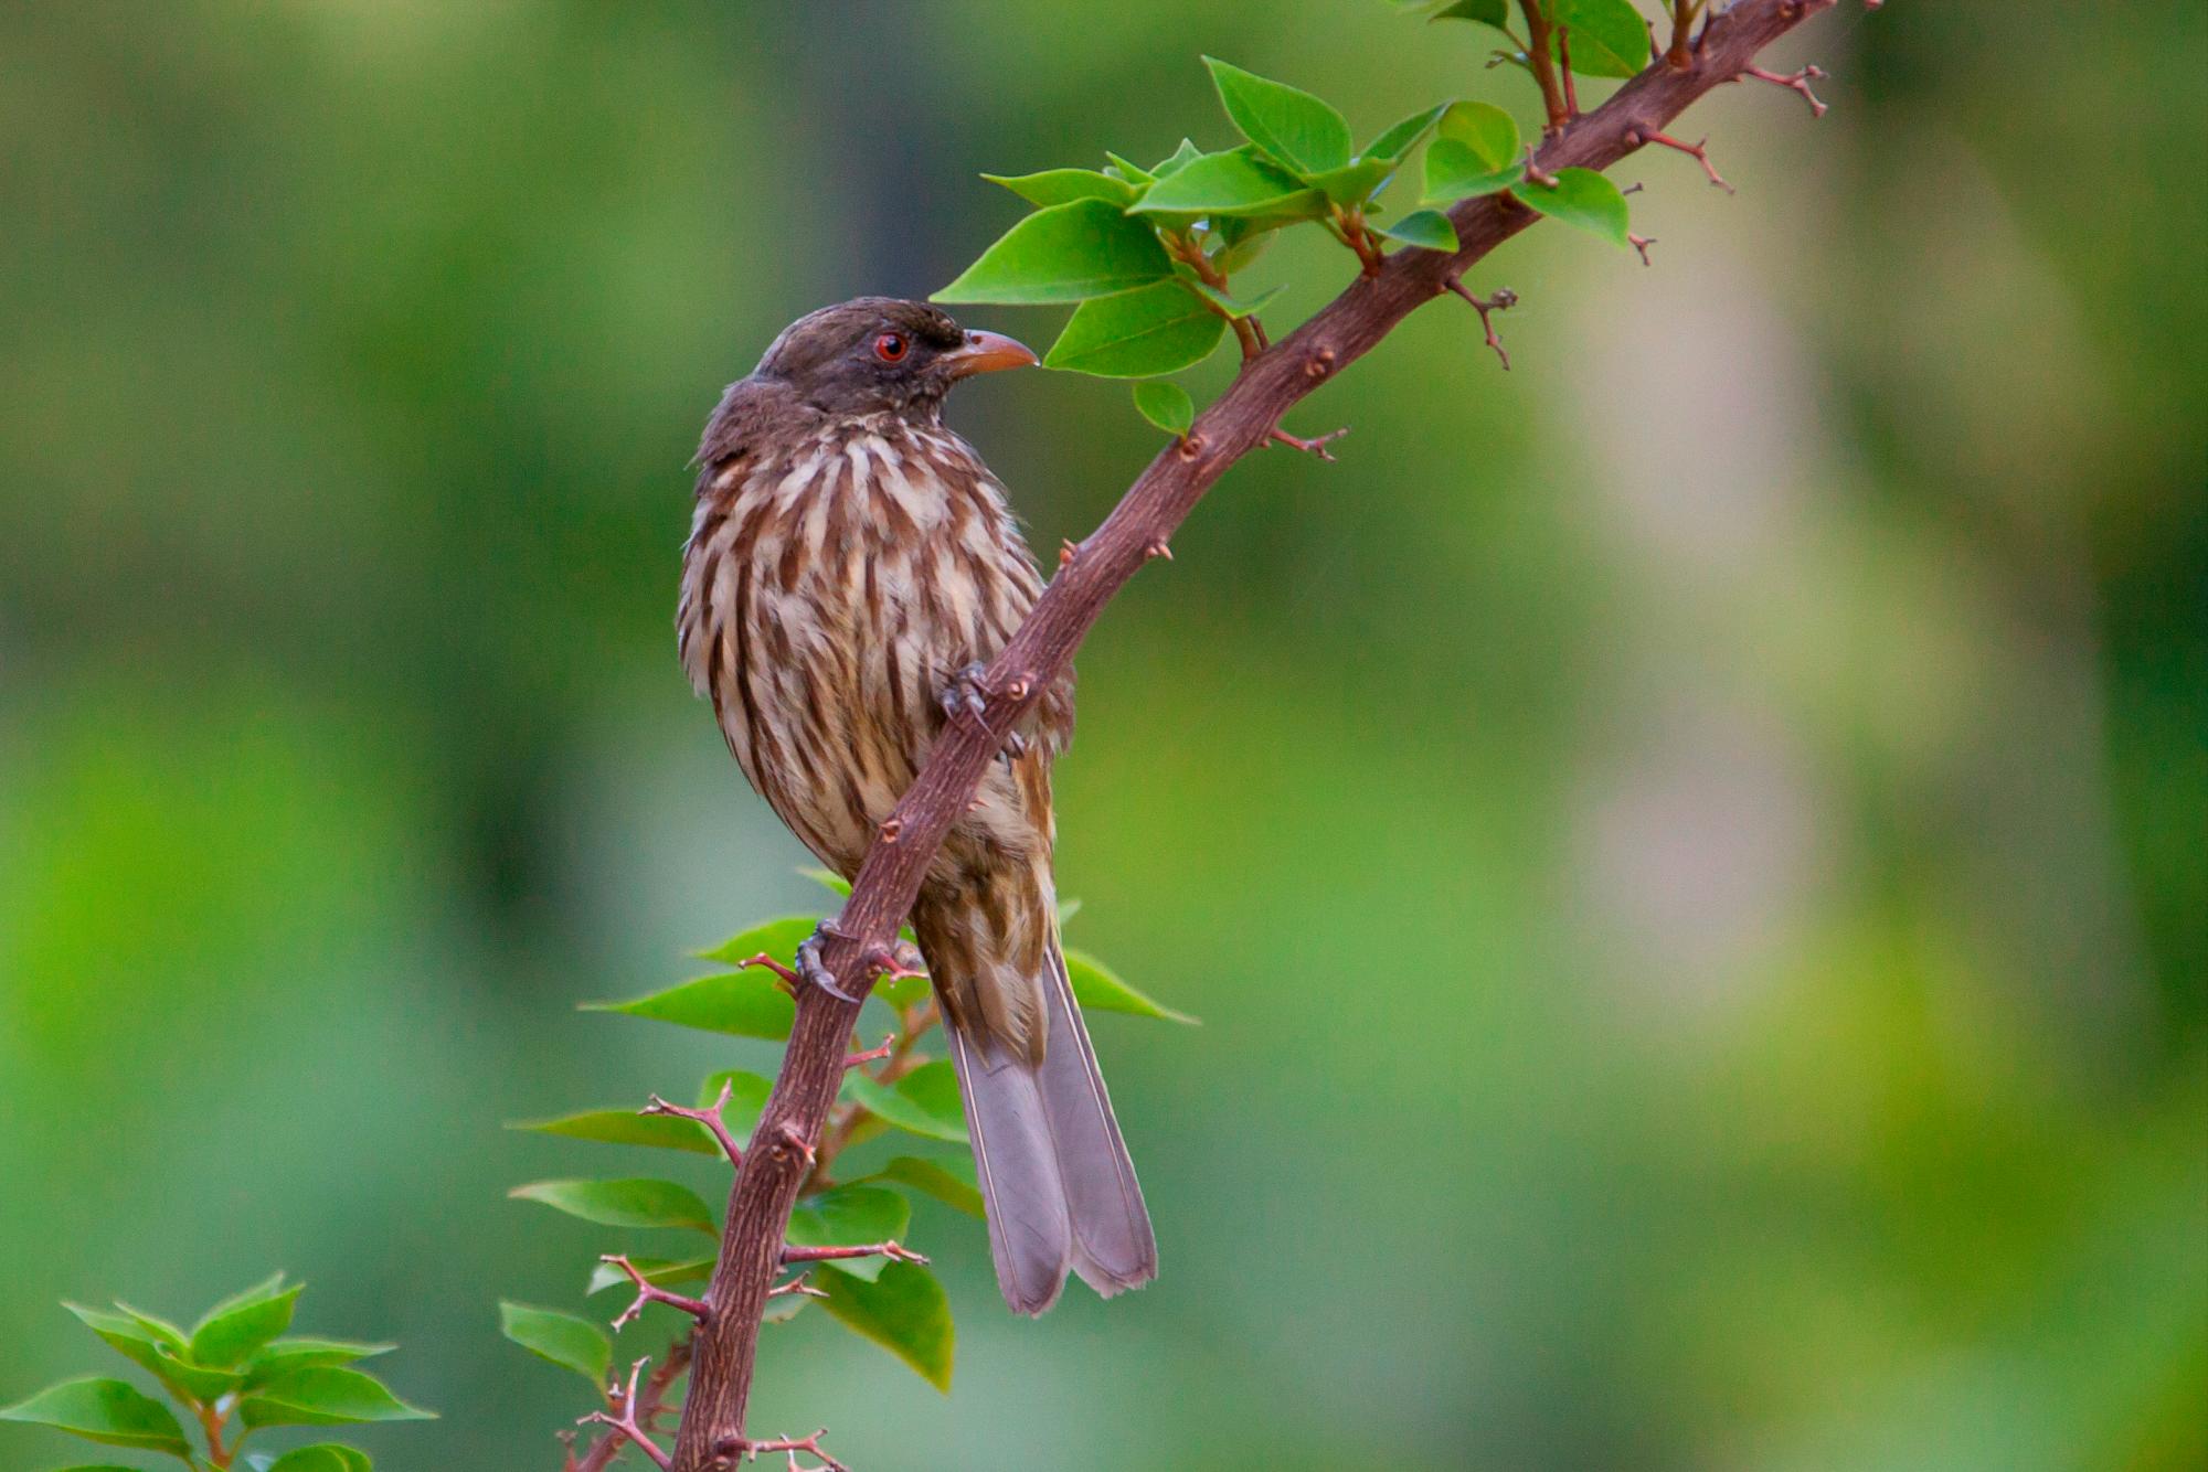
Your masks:
{"label": "green leaves around the lower branch, below the bird and around its tail", "polygon": [[[848,892],[841,878],[813,872],[837,892]],[[1069,916],[1078,905],[1066,905]],[[784,982],[766,967],[742,967],[755,956],[788,967],[797,947],[819,925],[817,916],[788,916],[755,925],[729,940],[698,951],[700,960],[720,962],[707,975],[625,1002],[592,1002],[587,1011],[669,1022],[684,1028],[786,1042],[795,1004]],[[1168,1022],[1195,1022],[1186,1013],[1159,1004],[1137,991],[1093,956],[1066,953],[1066,971],[1075,1000],[1086,1011],[1115,1011]],[[925,1039],[941,1022],[925,975],[885,978],[877,989],[890,1017],[888,1053],[848,1068],[830,1110],[817,1163],[806,1178],[797,1212],[790,1216],[788,1242],[795,1247],[861,1247],[903,1242],[912,1225],[914,1194],[941,1201],[967,1216],[983,1216],[983,1198],[974,1178],[974,1159],[965,1150],[965,1110],[958,1101],[958,1077],[949,1059],[932,1057]],[[881,1033],[872,1033],[879,1037]],[[852,1039],[852,1050],[863,1050]],[[698,1110],[720,1110],[729,1137],[749,1148],[751,1134],[773,1088],[764,1075],[731,1068],[707,1075],[698,1090]],[[601,1108],[556,1119],[512,1126],[539,1134],[594,1141],[605,1145],[640,1145],[689,1154],[718,1154],[713,1134],[696,1119],[638,1114]],[[888,1141],[872,1165],[859,1174],[841,1174],[850,1150],[870,1141]],[[658,1176],[594,1176],[534,1181],[510,1192],[517,1201],[534,1201],[565,1216],[620,1231],[665,1231],[673,1247],[654,1254],[625,1254],[629,1265],[658,1289],[684,1289],[713,1276],[720,1223],[698,1192],[680,1181]],[[693,1234],[693,1236],[691,1236]],[[700,1240],[702,1238],[702,1240]],[[623,1242],[623,1247],[627,1247]],[[956,1333],[949,1298],[936,1276],[921,1262],[892,1262],[881,1256],[837,1258],[808,1265],[808,1287],[815,1293],[786,1293],[768,1300],[768,1320],[782,1322],[819,1306],[852,1333],[888,1348],[912,1366],[927,1384],[949,1390]],[[583,1295],[634,1293],[634,1282],[614,1262],[590,1267]],[[537,1357],[574,1370],[605,1395],[614,1342],[598,1322],[563,1309],[501,1302],[501,1329],[508,1340]]]}

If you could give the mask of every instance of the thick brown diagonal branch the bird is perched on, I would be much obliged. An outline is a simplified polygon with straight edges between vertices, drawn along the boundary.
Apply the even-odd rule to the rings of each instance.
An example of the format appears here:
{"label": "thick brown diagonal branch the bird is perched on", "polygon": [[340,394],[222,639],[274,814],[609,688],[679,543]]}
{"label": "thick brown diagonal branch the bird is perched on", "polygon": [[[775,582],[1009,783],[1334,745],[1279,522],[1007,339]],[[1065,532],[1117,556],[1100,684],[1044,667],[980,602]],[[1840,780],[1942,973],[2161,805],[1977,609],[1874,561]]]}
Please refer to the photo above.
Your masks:
{"label": "thick brown diagonal branch the bird is perched on", "polygon": [[[1610,168],[1632,152],[1627,135],[1663,132],[1698,97],[1738,77],[1758,51],[1833,2],[1735,0],[1705,24],[1689,68],[1658,64],[1630,79],[1601,108],[1548,139],[1539,152],[1541,168]],[[1532,55],[1546,53],[1543,35]],[[1459,241],[1455,256],[1424,249],[1387,256],[1378,276],[1360,276],[1318,316],[1245,364],[1188,437],[1150,461],[991,660],[991,730],[1009,730],[1027,715],[1073,660],[1104,605],[1150,558],[1166,556],[1172,532],[1203,492],[1228,466],[1265,444],[1281,415],[1369,353],[1411,311],[1446,291],[1451,276],[1462,276],[1539,214],[1508,194],[1490,194],[1459,203],[1448,218]],[[850,900],[819,953],[852,995],[866,995],[868,951],[896,938],[936,847],[965,812],[996,750],[996,737],[965,722],[952,724],[883,825],[883,836],[868,852]],[[720,1262],[707,1289],[711,1318],[696,1335],[698,1359],[676,1441],[680,1472],[720,1472],[715,1457],[722,1448],[744,1443],[760,1315],[779,1278],[784,1231],[806,1178],[810,1141],[819,1137],[843,1081],[843,1057],[857,1020],[859,1002],[841,1002],[817,986],[802,986],[797,993],[797,1020],[782,1073],[729,1194]]]}

